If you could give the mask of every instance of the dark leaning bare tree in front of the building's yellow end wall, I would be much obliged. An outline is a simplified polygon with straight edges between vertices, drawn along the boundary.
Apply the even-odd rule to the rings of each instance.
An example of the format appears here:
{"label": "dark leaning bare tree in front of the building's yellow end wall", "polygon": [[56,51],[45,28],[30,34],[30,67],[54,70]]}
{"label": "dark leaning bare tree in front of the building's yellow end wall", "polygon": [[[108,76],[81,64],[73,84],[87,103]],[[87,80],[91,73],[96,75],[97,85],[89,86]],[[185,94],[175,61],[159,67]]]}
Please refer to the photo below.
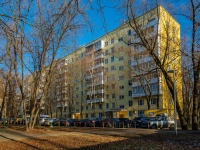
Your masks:
{"label": "dark leaning bare tree in front of the building's yellow end wall", "polygon": [[[134,40],[132,42],[132,45],[141,45],[143,48],[148,52],[149,56],[152,58],[156,66],[160,69],[160,71],[163,74],[163,77],[166,81],[166,85],[171,93],[171,95],[174,95],[174,82],[173,78],[169,75],[169,60],[170,60],[170,53],[174,51],[174,49],[177,49],[177,51],[174,51],[174,53],[177,52],[176,57],[173,56],[173,60],[176,59],[177,64],[180,63],[180,48],[176,46],[173,43],[177,43],[177,45],[180,44],[179,39],[176,37],[171,36],[173,33],[173,29],[169,28],[169,24],[171,23],[172,19],[167,17],[166,14],[160,14],[163,11],[161,11],[161,7],[157,6],[155,9],[153,9],[151,12],[148,12],[147,15],[143,15],[140,18],[137,18],[137,10],[135,7],[137,4],[135,1],[128,0],[126,1],[126,4],[124,5],[126,7],[126,16],[128,23],[130,27],[133,29],[136,38],[139,39],[139,41]],[[148,5],[141,5],[145,11],[147,11]],[[154,17],[157,18],[156,22],[163,25],[163,28],[158,30],[158,26],[160,24],[157,24],[157,32],[146,34],[151,30],[151,19],[154,19]],[[178,31],[177,31],[178,32]],[[158,39],[162,39],[162,43],[160,46],[158,46]],[[160,54],[157,50],[160,49],[162,51],[162,54]],[[179,53],[178,53],[179,51]],[[174,59],[175,58],[175,59]],[[174,63],[175,64],[175,63]],[[175,66],[173,66],[174,68]],[[179,70],[179,69],[178,69]],[[177,73],[179,75],[179,73]],[[178,89],[178,88],[177,88]],[[179,97],[180,98],[180,97]],[[173,97],[175,99],[175,97]],[[184,119],[181,103],[179,101],[176,101],[176,109],[179,114],[181,127],[182,129],[187,129],[187,124]]]}

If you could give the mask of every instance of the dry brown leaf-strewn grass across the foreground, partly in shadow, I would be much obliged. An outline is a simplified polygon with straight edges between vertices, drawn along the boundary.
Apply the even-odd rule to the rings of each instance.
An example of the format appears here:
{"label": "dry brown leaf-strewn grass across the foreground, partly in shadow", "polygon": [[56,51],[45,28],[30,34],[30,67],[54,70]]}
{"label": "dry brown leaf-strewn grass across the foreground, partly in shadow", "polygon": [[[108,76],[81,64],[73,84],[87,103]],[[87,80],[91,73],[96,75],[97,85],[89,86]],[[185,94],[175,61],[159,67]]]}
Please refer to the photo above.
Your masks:
{"label": "dry brown leaf-strewn grass across the foreground, partly in shadow", "polygon": [[[21,130],[24,130],[21,128]],[[59,135],[64,131],[65,135]],[[110,128],[36,128],[28,134],[53,133],[54,136],[38,136],[31,139],[0,142],[0,149],[94,149],[94,150],[134,150],[134,149],[200,149],[200,134],[154,133],[133,134],[131,136],[110,136],[106,132],[126,133],[124,129]],[[142,130],[141,130],[142,131]],[[147,131],[147,130],[146,130]],[[98,134],[98,135],[96,135]],[[101,135],[102,134],[102,135]]]}

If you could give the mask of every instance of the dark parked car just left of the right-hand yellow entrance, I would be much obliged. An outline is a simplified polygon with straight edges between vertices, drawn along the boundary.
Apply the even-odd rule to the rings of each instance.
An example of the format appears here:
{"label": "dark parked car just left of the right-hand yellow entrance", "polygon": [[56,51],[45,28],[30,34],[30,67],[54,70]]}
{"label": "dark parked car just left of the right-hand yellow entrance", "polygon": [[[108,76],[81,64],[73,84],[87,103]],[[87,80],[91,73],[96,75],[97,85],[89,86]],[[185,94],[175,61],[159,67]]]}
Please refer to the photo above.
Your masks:
{"label": "dark parked car just left of the right-hand yellow entrance", "polygon": [[120,127],[121,122],[118,118],[106,118],[101,121],[103,127]]}

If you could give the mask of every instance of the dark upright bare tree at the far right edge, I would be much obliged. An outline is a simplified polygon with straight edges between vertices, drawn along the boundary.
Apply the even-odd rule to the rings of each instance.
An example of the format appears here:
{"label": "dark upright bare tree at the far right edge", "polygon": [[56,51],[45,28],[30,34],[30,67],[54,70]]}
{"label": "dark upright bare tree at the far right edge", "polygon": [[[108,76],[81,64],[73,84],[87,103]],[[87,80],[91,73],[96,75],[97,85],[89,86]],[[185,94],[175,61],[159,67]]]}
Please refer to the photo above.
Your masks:
{"label": "dark upright bare tree at the far right edge", "polygon": [[[181,13],[187,20],[190,21],[189,32],[191,34],[191,40],[189,41],[188,47],[183,50],[184,54],[191,59],[191,71],[193,82],[193,102],[192,102],[192,129],[198,130],[198,113],[199,113],[199,86],[200,86],[200,1],[189,0],[183,6]],[[185,46],[184,46],[185,48]]]}

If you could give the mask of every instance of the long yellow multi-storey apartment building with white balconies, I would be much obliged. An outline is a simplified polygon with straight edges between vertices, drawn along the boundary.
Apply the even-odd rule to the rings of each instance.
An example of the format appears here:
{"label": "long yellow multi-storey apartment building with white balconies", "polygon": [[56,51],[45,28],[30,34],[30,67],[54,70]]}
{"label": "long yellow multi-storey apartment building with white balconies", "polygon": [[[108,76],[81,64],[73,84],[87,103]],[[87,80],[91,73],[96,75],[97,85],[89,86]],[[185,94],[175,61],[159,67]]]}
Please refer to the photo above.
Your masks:
{"label": "long yellow multi-storey apartment building with white balconies", "polygon": [[60,59],[53,86],[53,117],[173,115],[174,104],[164,76],[140,36],[148,37],[149,43],[154,40],[154,52],[164,68],[176,70],[174,79],[182,104],[180,25],[162,6],[137,21],[140,35],[124,23]]}

